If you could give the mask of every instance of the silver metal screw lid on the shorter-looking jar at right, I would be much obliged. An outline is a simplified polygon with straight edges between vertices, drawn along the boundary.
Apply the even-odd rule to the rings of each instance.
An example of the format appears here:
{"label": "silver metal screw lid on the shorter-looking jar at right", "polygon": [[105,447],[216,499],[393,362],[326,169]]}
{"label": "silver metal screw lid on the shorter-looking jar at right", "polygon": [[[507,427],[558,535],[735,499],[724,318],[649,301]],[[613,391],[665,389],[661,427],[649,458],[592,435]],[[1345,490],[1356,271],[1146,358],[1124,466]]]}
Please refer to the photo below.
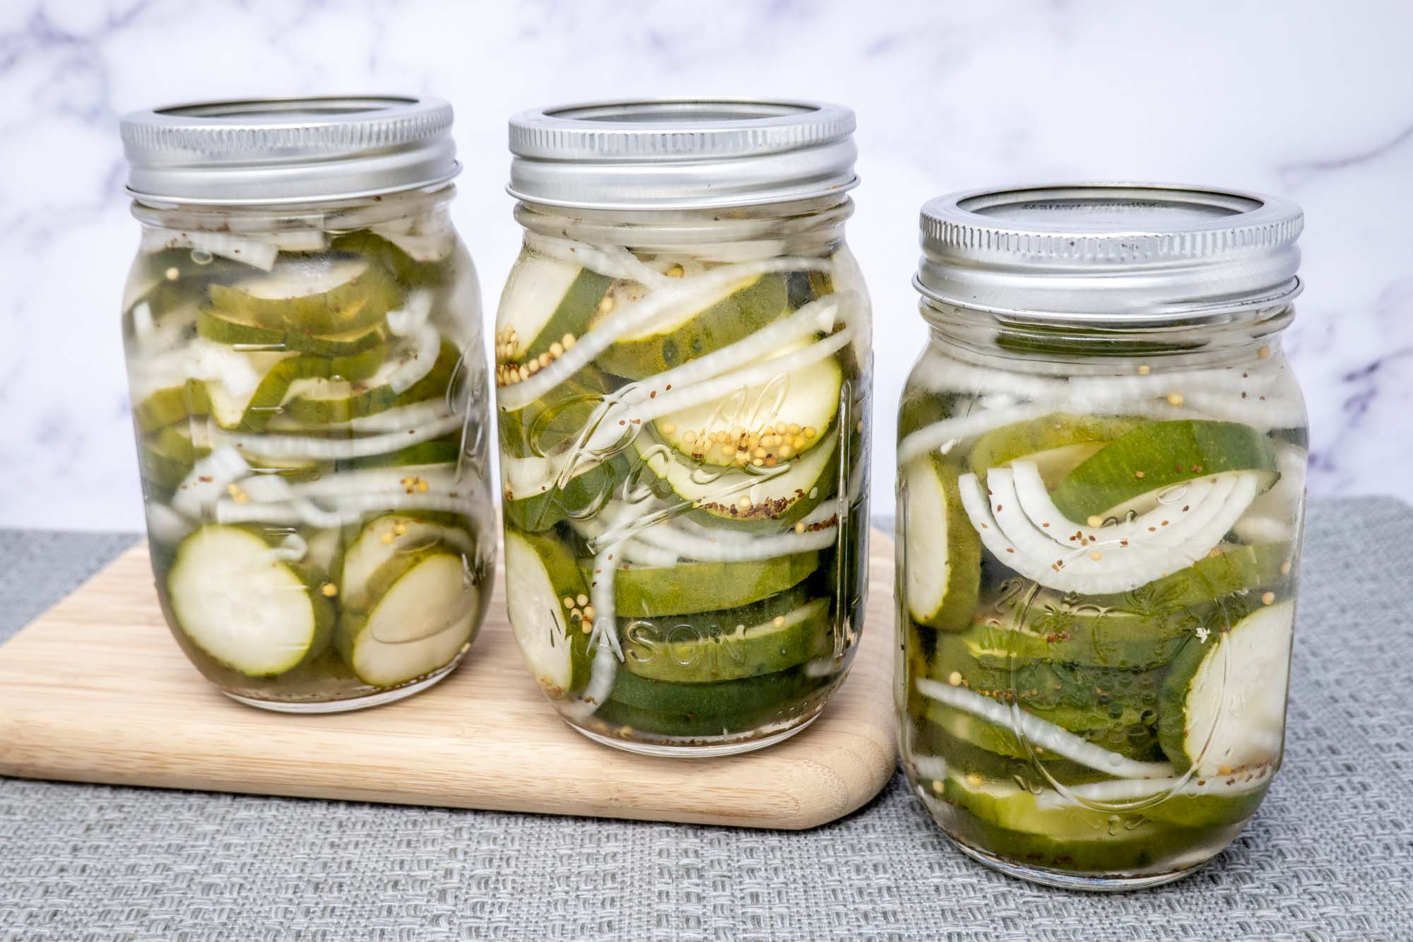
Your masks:
{"label": "silver metal screw lid on the shorter-looking jar at right", "polygon": [[1115,327],[1272,307],[1300,291],[1289,199],[1159,184],[972,190],[923,205],[913,284],[944,304]]}

